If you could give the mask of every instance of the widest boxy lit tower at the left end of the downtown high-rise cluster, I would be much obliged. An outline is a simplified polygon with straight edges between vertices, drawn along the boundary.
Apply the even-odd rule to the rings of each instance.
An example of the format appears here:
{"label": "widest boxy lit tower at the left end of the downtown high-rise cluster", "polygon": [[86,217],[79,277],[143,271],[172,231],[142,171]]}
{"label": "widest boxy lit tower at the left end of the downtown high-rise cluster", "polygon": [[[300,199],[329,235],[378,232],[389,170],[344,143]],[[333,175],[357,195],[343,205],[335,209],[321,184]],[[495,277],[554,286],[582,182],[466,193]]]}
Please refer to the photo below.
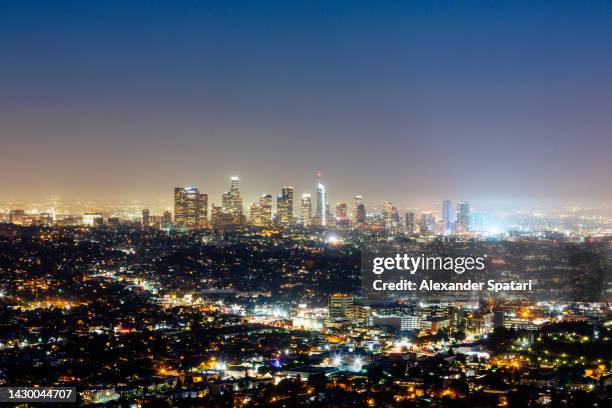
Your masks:
{"label": "widest boxy lit tower at the left end of the downtown high-rise cluster", "polygon": [[195,187],[174,189],[174,223],[176,227],[200,228],[208,221],[208,195]]}

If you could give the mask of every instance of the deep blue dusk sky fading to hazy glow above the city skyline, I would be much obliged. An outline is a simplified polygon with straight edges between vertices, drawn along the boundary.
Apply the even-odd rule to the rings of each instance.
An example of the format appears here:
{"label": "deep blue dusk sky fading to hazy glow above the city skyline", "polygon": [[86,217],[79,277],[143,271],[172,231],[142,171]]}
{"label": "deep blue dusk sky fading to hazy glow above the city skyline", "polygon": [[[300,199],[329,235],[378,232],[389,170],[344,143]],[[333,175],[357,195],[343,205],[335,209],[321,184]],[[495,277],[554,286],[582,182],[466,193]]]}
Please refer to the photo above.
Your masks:
{"label": "deep blue dusk sky fading to hazy glow above the city skyline", "polygon": [[0,0],[0,143],[0,199],[612,204],[612,2]]}

